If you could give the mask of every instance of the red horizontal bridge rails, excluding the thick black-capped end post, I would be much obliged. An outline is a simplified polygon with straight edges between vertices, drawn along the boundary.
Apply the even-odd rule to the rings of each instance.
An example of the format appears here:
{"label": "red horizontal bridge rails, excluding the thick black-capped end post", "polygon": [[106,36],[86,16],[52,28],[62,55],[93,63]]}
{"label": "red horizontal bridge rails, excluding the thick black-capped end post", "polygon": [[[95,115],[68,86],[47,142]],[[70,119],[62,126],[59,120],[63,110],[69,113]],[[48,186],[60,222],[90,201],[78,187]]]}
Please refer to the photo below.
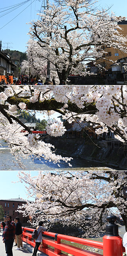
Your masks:
{"label": "red horizontal bridge rails, excluding the thick black-capped end post", "polygon": [[[35,247],[35,240],[32,239],[33,230],[34,230],[33,228],[23,228],[22,240],[24,242],[27,242],[31,246]],[[40,244],[40,246],[38,248],[41,252],[44,252],[45,254],[47,254],[49,256],[58,256],[58,255],[66,256],[66,254],[62,253],[62,251],[72,254],[74,256],[92,256],[92,255],[101,256],[101,254],[93,253],[88,250],[84,250],[84,249],[81,249],[81,248],[78,248],[75,246],[71,246],[69,244],[65,244],[65,243],[61,242],[61,239],[66,240],[66,241],[75,242],[77,244],[92,246],[94,248],[100,248],[100,249],[103,249],[103,242],[96,242],[93,240],[87,240],[87,239],[78,238],[78,237],[74,237],[74,236],[66,236],[66,235],[56,234],[56,233],[47,232],[47,231],[42,231],[42,235],[43,234],[48,237],[50,236],[50,237],[54,238],[54,240],[52,240],[50,238],[43,237],[42,244]],[[48,246],[52,246],[52,247],[54,247],[54,249],[52,249]]]}

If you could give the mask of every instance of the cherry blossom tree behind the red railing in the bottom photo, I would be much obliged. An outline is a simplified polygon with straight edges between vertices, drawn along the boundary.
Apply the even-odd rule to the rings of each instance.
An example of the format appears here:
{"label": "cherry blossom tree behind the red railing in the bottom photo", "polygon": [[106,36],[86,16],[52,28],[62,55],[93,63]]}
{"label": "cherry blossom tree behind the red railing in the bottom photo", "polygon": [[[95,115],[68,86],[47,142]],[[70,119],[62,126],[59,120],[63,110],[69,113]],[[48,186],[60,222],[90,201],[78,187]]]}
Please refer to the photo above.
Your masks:
{"label": "cherry blossom tree behind the red railing in the bottom photo", "polygon": [[89,237],[105,232],[107,214],[121,214],[127,231],[125,171],[47,171],[38,172],[37,177],[20,172],[19,181],[25,182],[28,196],[35,198],[18,210],[31,215],[33,225],[40,218],[48,226],[59,220],[81,228],[83,236]]}

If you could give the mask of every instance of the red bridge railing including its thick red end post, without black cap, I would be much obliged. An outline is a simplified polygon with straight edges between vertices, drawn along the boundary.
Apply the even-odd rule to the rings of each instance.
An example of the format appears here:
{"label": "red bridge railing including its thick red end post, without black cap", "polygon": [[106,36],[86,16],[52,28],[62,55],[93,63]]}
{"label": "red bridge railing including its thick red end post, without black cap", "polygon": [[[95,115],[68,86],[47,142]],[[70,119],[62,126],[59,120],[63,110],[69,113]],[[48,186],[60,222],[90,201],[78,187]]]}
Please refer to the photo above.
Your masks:
{"label": "red bridge railing including its thick red end post, without black cap", "polygon": [[[31,246],[35,247],[35,240],[32,239],[33,230],[34,230],[33,228],[24,227],[22,240],[30,244]],[[72,254],[73,256],[101,256],[101,254],[98,254],[96,252],[90,252],[88,250],[84,250],[76,246],[72,246],[64,242],[61,242],[61,239],[75,242],[77,244],[91,246],[91,247],[102,249],[102,250],[104,249],[103,251],[104,256],[122,256],[122,252],[125,252],[125,248],[122,246],[122,238],[120,236],[117,236],[117,237],[104,236],[103,242],[98,242],[98,241],[93,241],[93,240],[88,240],[83,238],[77,238],[73,236],[56,234],[56,233],[47,232],[47,231],[42,231],[42,234],[54,238],[53,240],[50,238],[43,237],[42,244],[40,244],[38,248],[41,252],[44,252],[49,256],[58,256],[58,255],[66,256],[66,254],[64,254],[63,252]],[[115,238],[116,238],[116,241],[115,241]],[[112,243],[114,243],[114,246]],[[52,246],[54,249],[48,246]],[[120,254],[116,254],[116,250],[118,251],[118,253],[120,252]]]}

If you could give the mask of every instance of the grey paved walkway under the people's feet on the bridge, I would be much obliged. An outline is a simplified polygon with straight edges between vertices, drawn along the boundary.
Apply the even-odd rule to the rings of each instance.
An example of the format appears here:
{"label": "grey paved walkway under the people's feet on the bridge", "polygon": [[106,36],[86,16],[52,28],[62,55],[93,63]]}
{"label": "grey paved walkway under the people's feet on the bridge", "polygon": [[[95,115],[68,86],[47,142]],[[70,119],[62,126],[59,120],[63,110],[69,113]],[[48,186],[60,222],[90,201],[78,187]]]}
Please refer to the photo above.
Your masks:
{"label": "grey paved walkway under the people's feet on the bridge", "polygon": [[[0,255],[1,256],[7,256],[5,252],[5,244],[2,241],[2,232],[0,232]],[[33,252],[33,247],[30,246],[29,244],[26,244],[23,242],[23,249],[20,250],[15,250],[17,246],[15,246],[15,242],[13,243],[13,256],[32,256]],[[46,254],[41,253],[38,251],[37,256],[46,256]]]}

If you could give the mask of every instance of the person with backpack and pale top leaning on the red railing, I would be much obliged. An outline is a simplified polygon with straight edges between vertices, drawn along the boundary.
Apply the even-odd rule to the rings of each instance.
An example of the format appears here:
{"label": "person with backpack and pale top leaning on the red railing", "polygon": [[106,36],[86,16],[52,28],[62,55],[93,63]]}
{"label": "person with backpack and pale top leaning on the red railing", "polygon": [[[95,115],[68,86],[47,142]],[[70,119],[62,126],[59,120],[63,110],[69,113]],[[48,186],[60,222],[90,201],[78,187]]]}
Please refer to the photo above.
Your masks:
{"label": "person with backpack and pale top leaning on the red railing", "polygon": [[46,228],[44,228],[43,221],[40,221],[38,223],[38,226],[36,227],[36,229],[37,229],[38,238],[35,239],[36,244],[35,244],[35,248],[34,248],[32,256],[37,256],[38,247],[40,246],[40,243],[42,242],[42,230],[43,231],[47,230]]}

